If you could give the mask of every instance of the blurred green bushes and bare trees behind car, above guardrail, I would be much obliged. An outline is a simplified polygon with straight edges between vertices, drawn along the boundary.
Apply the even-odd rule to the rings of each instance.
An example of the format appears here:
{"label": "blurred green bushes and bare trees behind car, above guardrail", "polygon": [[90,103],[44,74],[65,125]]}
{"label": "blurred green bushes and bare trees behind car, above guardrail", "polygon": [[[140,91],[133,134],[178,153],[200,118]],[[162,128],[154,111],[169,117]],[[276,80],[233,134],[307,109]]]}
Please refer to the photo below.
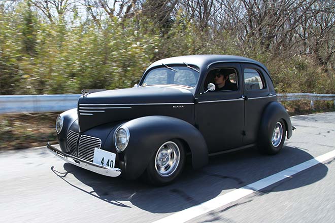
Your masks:
{"label": "blurred green bushes and bare trees behind car, above guardrail", "polygon": [[127,88],[190,54],[264,63],[278,93],[335,93],[333,1],[0,2],[0,95]]}

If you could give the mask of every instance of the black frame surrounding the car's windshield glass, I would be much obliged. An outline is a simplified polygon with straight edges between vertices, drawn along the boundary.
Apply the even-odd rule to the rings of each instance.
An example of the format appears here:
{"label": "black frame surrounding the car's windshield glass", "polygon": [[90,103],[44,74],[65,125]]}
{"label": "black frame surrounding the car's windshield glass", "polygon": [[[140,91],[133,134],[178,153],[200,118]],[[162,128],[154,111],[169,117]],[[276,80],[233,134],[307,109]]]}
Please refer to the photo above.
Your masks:
{"label": "black frame surrounding the car's windshield glass", "polygon": [[[197,69],[199,72],[198,72],[198,78],[196,80],[196,83],[193,87],[191,86],[187,86],[187,85],[179,85],[179,84],[152,84],[152,85],[145,85],[145,86],[142,86],[142,84],[144,83],[144,80],[146,79],[148,73],[150,73],[152,70],[154,69],[157,69],[157,68],[166,68],[166,69],[170,69],[168,67],[166,67],[166,65],[168,65],[169,67],[185,67],[189,70],[192,70],[193,72],[196,72],[194,69],[190,68],[190,67],[187,67],[187,65],[191,66],[191,67],[194,67],[195,69]],[[174,64],[162,64],[162,65],[158,65],[158,66],[154,66],[154,67],[151,67],[150,69],[146,70],[139,82],[139,86],[140,87],[146,87],[146,86],[176,86],[176,87],[184,87],[184,88],[188,88],[188,89],[194,89],[197,87],[198,83],[199,83],[199,80],[200,80],[200,68],[194,64],[185,64],[185,63],[174,63]]]}

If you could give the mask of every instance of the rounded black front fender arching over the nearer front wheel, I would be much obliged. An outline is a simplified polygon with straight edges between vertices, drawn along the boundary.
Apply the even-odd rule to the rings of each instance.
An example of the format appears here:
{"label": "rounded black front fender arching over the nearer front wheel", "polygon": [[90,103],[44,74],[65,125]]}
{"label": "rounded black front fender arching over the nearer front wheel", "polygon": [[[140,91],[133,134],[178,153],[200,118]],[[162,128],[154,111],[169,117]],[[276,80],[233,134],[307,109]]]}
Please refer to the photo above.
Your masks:
{"label": "rounded black front fender arching over the nearer front wheel", "polygon": [[122,174],[128,179],[138,178],[146,170],[159,146],[173,138],[182,139],[188,144],[193,168],[197,169],[208,163],[208,148],[203,135],[183,120],[167,116],[147,116],[123,125],[129,129],[130,138],[119,158]]}

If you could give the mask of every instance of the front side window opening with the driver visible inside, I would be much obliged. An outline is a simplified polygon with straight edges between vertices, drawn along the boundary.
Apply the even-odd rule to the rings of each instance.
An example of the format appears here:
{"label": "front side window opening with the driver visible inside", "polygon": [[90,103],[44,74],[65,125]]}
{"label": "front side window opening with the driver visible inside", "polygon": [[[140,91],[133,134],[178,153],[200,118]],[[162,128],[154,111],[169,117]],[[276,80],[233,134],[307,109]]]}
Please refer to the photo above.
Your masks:
{"label": "front side window opening with the driver visible inside", "polygon": [[237,71],[233,68],[212,69],[206,77],[205,90],[209,83],[215,84],[215,91],[236,91],[238,90]]}

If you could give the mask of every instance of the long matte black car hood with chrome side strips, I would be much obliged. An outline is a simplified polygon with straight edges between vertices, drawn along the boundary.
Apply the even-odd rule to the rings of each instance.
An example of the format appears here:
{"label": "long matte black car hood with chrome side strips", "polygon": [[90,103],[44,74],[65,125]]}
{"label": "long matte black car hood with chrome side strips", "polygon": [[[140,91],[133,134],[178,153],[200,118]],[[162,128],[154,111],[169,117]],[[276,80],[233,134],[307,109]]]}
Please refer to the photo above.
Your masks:
{"label": "long matte black car hood with chrome side strips", "polygon": [[183,87],[146,86],[83,95],[78,101],[80,131],[105,123],[164,115],[194,123],[194,96]]}

